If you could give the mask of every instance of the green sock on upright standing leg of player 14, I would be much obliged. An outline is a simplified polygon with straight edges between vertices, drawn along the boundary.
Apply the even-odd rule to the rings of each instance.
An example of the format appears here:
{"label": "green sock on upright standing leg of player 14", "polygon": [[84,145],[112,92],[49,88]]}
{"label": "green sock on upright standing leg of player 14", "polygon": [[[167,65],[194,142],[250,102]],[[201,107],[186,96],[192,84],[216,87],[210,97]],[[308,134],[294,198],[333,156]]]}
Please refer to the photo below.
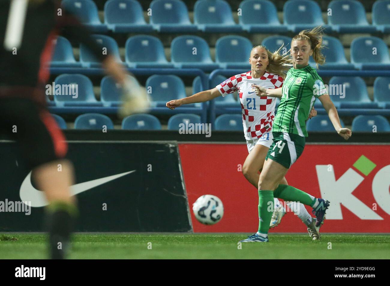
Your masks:
{"label": "green sock on upright standing leg of player 14", "polygon": [[273,191],[259,189],[259,232],[268,233],[273,213]]}

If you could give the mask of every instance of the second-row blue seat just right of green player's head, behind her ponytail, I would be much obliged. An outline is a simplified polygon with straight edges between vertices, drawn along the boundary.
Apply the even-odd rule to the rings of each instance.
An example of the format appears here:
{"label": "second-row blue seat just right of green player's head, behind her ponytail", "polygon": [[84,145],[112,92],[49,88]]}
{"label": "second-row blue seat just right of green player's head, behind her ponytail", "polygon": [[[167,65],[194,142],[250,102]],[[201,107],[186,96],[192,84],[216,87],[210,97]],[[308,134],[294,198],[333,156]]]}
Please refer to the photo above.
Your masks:
{"label": "second-row blue seat just right of green player's head, behind her ponytail", "polygon": [[[339,39],[329,36],[324,36],[322,44],[325,46],[322,49],[323,55],[326,57],[324,65],[319,65],[321,70],[353,70],[355,66],[347,62],[344,54],[344,47]],[[313,57],[310,57],[309,63],[312,67],[316,67]]]}

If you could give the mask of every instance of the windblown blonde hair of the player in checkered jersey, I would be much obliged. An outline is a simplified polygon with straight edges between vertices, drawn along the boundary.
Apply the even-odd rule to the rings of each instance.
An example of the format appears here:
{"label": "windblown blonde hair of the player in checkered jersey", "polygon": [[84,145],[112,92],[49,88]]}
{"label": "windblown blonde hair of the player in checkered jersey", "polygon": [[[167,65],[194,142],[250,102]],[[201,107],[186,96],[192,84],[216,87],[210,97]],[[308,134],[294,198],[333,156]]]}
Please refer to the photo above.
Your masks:
{"label": "windblown blonde hair of the player in checkered jersey", "polygon": [[286,77],[287,71],[291,68],[293,62],[289,56],[289,52],[284,54],[279,54],[280,50],[283,46],[280,46],[279,49],[273,53],[271,53],[267,47],[259,45],[252,48],[250,54],[252,56],[252,51],[257,48],[262,48],[267,51],[268,54],[268,66],[266,68],[266,72],[270,74],[277,74],[281,76],[283,79]]}

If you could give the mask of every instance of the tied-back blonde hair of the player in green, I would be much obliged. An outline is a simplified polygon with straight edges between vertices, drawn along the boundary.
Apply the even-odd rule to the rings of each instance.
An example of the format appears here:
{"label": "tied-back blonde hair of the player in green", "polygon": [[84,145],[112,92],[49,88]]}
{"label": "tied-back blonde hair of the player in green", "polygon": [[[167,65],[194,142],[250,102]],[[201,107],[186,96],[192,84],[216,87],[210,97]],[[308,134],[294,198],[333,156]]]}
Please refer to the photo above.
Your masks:
{"label": "tied-back blonde hair of the player in green", "polygon": [[322,27],[317,26],[312,30],[303,30],[296,35],[293,40],[307,40],[310,43],[313,50],[313,59],[316,62],[316,66],[323,65],[325,63],[325,56],[321,53],[322,45]]}

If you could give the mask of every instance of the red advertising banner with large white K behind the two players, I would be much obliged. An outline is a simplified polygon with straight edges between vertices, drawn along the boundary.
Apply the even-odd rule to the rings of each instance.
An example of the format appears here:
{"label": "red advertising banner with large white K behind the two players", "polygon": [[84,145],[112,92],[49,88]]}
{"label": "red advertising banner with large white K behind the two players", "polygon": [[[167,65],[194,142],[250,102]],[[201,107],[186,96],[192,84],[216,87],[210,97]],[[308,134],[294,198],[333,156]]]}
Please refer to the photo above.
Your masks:
{"label": "red advertising banner with large white K behind the two players", "polygon": [[[256,232],[257,188],[241,172],[246,145],[179,144],[179,151],[194,232]],[[321,232],[390,233],[390,146],[307,144],[286,179],[331,202]],[[192,204],[206,194],[224,206],[216,225],[202,225],[192,213]],[[306,226],[287,212],[272,232],[306,232]]]}

